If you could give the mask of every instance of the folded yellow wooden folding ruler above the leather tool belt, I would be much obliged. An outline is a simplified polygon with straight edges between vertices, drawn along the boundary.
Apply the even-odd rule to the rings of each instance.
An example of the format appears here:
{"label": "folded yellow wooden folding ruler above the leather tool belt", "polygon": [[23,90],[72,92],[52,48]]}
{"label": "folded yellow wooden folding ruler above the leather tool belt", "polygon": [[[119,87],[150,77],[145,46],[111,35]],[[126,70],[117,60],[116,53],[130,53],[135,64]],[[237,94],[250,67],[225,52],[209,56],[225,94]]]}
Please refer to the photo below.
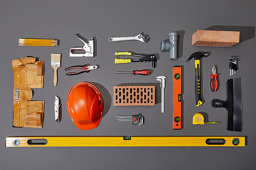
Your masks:
{"label": "folded yellow wooden folding ruler above the leather tool belt", "polygon": [[19,38],[18,45],[56,46],[56,45],[58,45],[58,40],[57,39]]}

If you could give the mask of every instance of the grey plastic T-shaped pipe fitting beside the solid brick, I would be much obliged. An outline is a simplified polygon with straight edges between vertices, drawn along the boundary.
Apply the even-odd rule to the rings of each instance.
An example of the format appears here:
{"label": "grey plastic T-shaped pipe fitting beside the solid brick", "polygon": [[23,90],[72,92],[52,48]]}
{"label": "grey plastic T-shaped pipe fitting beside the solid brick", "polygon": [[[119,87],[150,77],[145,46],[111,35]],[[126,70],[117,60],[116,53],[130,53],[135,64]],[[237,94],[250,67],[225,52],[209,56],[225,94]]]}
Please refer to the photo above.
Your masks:
{"label": "grey plastic T-shaped pipe fitting beside the solid brick", "polygon": [[170,51],[170,59],[178,59],[178,33],[169,33],[169,42],[162,41],[160,50]]}

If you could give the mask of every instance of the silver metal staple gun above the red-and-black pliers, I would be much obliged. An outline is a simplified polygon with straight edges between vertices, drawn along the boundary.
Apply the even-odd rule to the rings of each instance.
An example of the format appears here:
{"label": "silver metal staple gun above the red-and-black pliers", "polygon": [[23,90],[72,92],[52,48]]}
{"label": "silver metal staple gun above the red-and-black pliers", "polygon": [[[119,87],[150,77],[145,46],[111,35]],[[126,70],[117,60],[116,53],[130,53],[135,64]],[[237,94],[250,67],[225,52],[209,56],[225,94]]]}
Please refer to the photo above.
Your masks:
{"label": "silver metal staple gun above the red-and-black pliers", "polygon": [[69,49],[70,57],[94,57],[94,39],[91,38],[88,42],[83,40],[80,34],[75,34],[75,36],[81,40],[83,46],[74,46]]}

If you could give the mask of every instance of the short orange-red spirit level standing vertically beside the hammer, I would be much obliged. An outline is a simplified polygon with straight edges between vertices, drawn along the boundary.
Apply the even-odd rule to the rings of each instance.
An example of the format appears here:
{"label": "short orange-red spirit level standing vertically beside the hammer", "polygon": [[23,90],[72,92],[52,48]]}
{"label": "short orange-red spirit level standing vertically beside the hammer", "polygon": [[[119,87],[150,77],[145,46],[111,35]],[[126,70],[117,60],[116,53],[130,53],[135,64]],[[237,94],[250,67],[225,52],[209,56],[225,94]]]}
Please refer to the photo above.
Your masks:
{"label": "short orange-red spirit level standing vertically beside the hammer", "polygon": [[173,129],[181,129],[181,66],[173,67]]}

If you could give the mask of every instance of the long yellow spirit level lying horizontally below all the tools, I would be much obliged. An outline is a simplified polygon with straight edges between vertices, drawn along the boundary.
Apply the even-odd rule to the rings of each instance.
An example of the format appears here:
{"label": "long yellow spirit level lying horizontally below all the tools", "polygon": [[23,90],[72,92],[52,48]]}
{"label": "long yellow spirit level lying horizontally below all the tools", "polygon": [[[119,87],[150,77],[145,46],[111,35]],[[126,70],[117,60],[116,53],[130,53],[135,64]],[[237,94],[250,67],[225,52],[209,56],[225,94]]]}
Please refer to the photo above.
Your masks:
{"label": "long yellow spirit level lying horizontally below all the tools", "polygon": [[6,147],[245,147],[244,136],[27,136]]}

